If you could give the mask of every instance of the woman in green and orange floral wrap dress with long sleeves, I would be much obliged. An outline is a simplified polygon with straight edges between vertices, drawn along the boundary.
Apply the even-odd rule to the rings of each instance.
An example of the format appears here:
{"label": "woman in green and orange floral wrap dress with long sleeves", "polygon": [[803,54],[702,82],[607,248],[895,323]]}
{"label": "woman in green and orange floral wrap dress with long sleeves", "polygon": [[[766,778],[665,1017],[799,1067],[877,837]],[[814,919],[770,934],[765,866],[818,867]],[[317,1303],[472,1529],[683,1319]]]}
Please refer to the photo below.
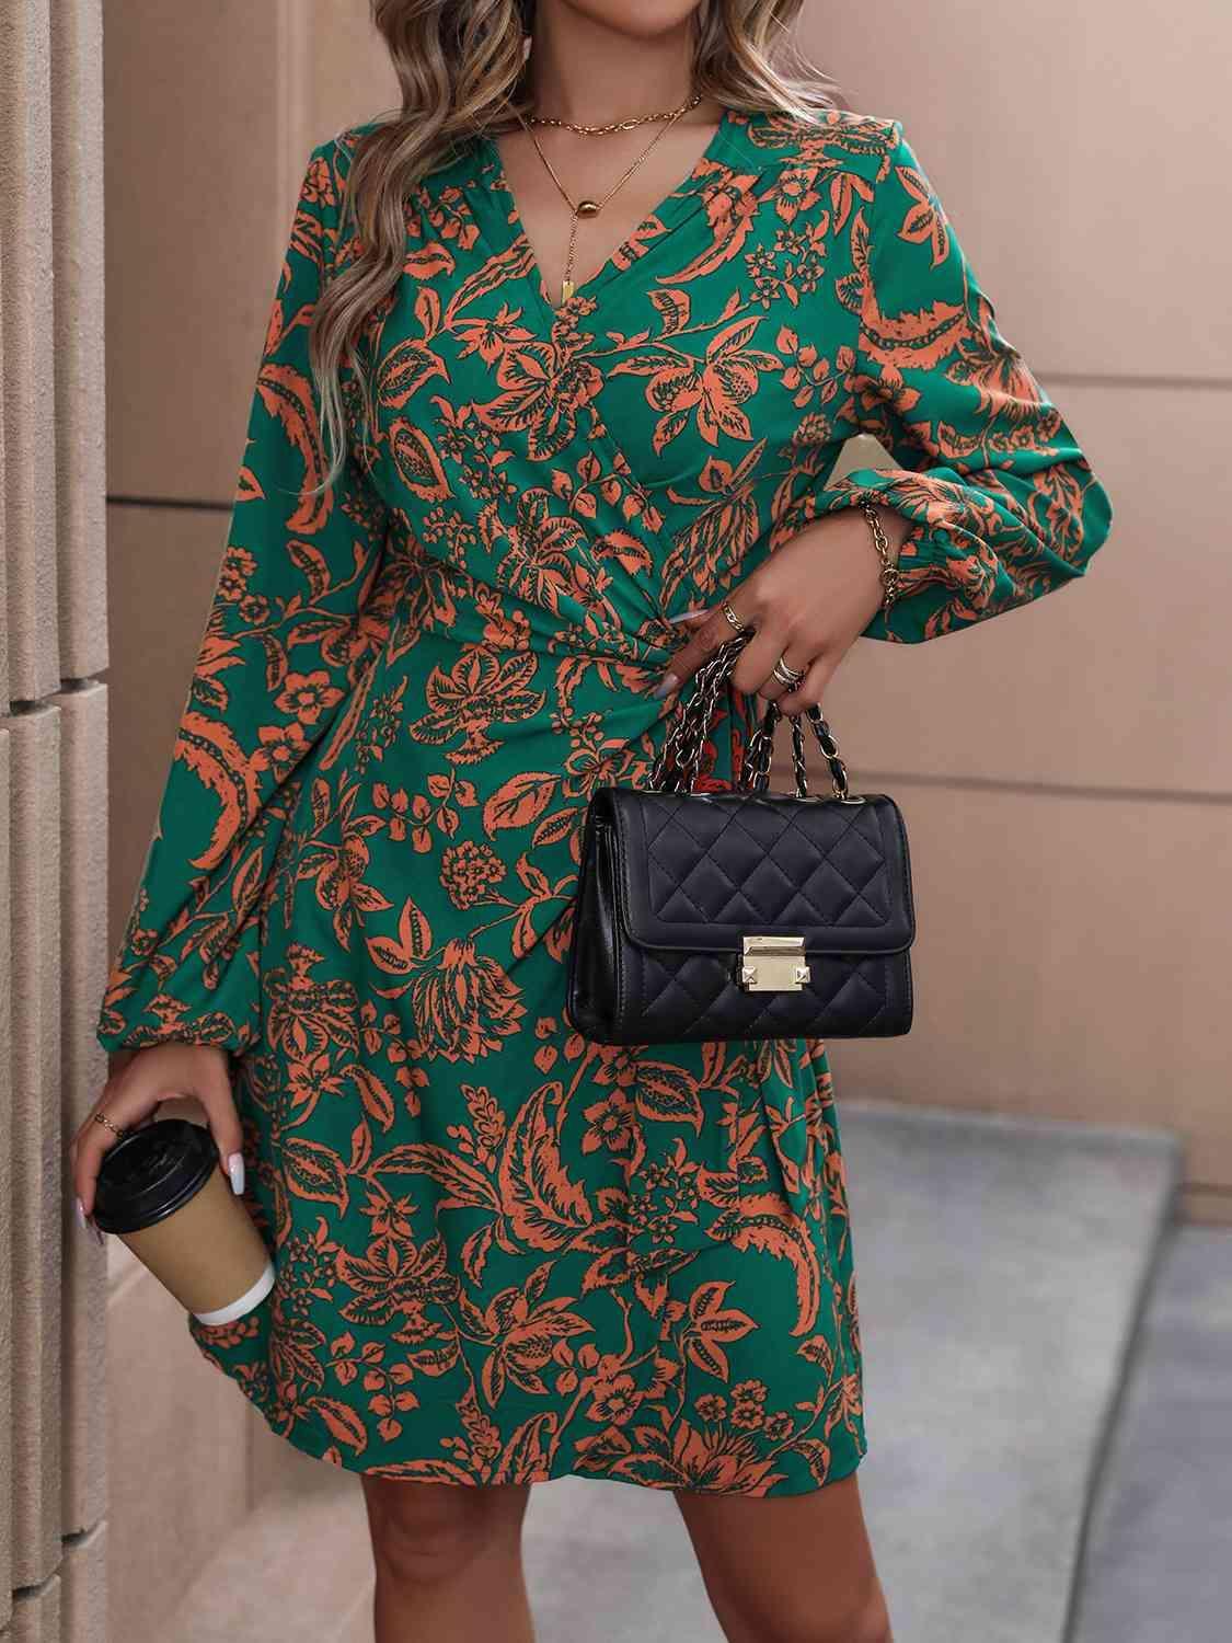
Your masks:
{"label": "woman in green and orange floral wrap dress with long sleeves", "polygon": [[[825,1047],[562,1014],[588,794],[733,626],[716,785],[759,698],[1109,531],[902,123],[788,74],[797,12],[376,0],[402,110],[304,177],[74,1162],[89,1224],[115,1134],[200,1099],[278,1285],[195,1341],[361,1474],[381,1640],[529,1638],[565,1474],[675,1492],[728,1638],[889,1638]],[[894,467],[828,483],[859,430]]]}

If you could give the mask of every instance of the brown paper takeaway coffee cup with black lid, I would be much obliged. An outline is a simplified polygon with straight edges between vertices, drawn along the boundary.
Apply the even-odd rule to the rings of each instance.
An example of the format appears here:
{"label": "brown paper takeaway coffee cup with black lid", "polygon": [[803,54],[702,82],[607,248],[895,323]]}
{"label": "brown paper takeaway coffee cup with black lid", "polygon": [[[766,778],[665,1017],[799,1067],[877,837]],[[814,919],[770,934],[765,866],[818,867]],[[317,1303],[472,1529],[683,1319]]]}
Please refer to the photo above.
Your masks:
{"label": "brown paper takeaway coffee cup with black lid", "polygon": [[202,1324],[228,1324],[274,1283],[256,1222],[189,1119],[130,1130],[103,1155],[94,1221],[113,1232]]}

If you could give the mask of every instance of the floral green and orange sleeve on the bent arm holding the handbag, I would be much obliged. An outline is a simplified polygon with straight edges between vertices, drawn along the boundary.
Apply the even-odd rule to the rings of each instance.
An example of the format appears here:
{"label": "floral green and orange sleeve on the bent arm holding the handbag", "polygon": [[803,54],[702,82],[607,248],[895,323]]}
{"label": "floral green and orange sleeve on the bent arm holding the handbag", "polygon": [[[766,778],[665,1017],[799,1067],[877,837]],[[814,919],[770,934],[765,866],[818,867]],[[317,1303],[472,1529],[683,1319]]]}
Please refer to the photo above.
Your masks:
{"label": "floral green and orange sleeve on the bent arm holding the handbag", "polygon": [[[890,140],[872,204],[853,225],[859,309],[848,414],[894,465],[854,468],[798,498],[787,526],[862,496],[913,521],[889,631],[920,641],[1037,600],[1083,575],[1112,504],[1071,429],[1018,352],[903,136]],[[869,544],[872,552],[872,544]]]}

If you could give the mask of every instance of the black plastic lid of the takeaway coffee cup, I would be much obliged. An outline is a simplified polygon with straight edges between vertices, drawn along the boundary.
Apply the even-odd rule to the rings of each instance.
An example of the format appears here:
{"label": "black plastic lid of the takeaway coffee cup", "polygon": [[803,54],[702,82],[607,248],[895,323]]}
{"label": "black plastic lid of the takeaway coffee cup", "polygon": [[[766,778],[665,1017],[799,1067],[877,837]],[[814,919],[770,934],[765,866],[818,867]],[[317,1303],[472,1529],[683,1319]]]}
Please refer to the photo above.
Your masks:
{"label": "black plastic lid of the takeaway coffee cup", "polygon": [[94,1219],[103,1232],[140,1232],[174,1214],[209,1181],[218,1152],[189,1119],[159,1119],[130,1130],[103,1153]]}

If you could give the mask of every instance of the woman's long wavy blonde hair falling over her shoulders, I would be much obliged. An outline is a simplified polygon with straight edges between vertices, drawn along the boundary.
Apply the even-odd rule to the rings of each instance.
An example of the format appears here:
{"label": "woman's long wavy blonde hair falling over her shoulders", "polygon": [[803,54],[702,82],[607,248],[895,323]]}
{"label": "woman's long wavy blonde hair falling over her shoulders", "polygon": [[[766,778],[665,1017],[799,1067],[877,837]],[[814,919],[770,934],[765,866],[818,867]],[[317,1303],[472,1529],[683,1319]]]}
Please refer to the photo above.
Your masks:
{"label": "woman's long wavy blonde hair falling over her shoulders", "polygon": [[[800,53],[792,25],[803,0],[701,0],[693,90],[747,112],[818,118],[841,105],[836,84]],[[527,36],[536,0],[371,0],[398,72],[402,107],[355,140],[342,207],[356,255],[322,291],[309,332],[330,486],[347,460],[342,370],[370,406],[358,340],[393,294],[406,256],[406,200],[476,128],[496,136],[532,113]],[[365,412],[363,437],[370,416]]]}

